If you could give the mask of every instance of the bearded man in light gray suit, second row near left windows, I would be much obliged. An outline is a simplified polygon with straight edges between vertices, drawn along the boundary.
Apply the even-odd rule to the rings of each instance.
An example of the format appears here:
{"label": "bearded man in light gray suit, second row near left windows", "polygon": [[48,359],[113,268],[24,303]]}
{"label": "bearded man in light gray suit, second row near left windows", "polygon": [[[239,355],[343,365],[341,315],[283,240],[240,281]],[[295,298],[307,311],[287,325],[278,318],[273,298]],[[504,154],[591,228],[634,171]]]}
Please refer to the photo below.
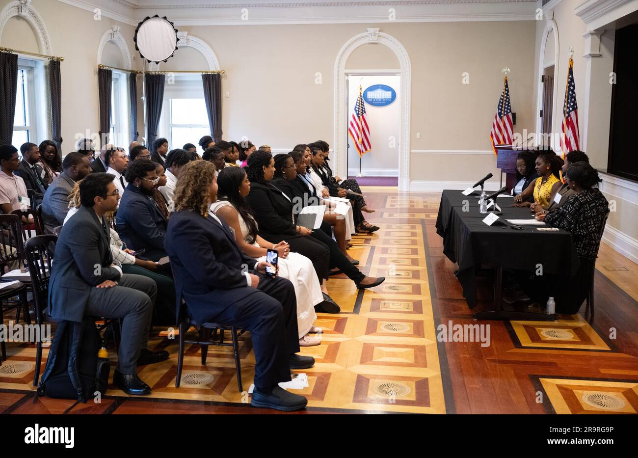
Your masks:
{"label": "bearded man in light gray suit, second row near left windows", "polygon": [[44,230],[53,233],[56,226],[64,223],[69,211],[69,194],[76,181],[91,173],[91,164],[85,154],[70,152],[64,156],[63,172],[48,185],[42,200]]}

